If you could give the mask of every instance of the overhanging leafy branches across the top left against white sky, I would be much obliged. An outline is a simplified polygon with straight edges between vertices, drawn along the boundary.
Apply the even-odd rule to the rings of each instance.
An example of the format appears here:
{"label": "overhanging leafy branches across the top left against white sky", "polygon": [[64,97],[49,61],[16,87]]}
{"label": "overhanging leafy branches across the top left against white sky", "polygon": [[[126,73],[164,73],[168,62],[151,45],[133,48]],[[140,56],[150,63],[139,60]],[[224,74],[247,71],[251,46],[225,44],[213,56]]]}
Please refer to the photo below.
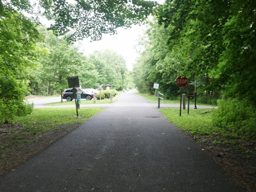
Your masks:
{"label": "overhanging leafy branches across the top left against white sky", "polygon": [[141,0],[39,0],[33,6],[29,0],[0,2],[0,7],[34,12],[54,21],[49,29],[57,35],[71,34],[70,41],[85,37],[95,41],[102,34],[115,34],[118,27],[143,23],[157,5]]}

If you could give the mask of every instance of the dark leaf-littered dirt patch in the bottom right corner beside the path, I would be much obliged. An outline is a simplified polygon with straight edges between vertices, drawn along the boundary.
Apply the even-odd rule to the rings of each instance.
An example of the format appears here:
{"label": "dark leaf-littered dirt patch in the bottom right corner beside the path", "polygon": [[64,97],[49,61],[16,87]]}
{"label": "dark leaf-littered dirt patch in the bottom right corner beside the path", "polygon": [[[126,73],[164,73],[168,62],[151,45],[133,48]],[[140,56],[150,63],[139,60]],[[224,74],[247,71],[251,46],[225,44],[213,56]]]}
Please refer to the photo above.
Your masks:
{"label": "dark leaf-littered dirt patch in the bottom right corner beside the path", "polygon": [[215,162],[247,191],[256,192],[256,146],[255,142],[237,144],[214,144],[214,138],[198,136],[196,141]]}

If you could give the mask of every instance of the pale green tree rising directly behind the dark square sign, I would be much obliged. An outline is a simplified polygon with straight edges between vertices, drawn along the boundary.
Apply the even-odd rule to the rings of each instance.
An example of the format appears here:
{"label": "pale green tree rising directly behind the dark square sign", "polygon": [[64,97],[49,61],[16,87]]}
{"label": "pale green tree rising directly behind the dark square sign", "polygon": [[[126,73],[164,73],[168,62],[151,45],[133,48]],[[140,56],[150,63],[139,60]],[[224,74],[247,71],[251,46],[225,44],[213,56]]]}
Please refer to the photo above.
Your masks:
{"label": "pale green tree rising directly behind the dark square sign", "polygon": [[50,51],[49,55],[40,59],[41,78],[53,90],[60,92],[62,101],[63,89],[67,87],[67,77],[79,74],[85,57],[79,53],[77,47],[66,41],[66,37],[58,38],[52,31],[46,31],[44,28],[41,30],[46,34],[43,46]]}

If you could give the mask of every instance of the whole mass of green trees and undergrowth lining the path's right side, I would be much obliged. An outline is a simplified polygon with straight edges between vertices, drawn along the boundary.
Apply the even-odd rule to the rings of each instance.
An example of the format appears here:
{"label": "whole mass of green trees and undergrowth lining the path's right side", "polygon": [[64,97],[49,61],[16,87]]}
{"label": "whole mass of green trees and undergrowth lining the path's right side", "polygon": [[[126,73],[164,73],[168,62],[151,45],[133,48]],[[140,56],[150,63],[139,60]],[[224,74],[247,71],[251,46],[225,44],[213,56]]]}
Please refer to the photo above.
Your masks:
{"label": "whole mass of green trees and undergrowth lining the path's right side", "polygon": [[[186,76],[200,101],[217,104],[213,122],[231,130],[256,126],[256,2],[165,1],[149,22],[145,50],[134,65],[141,92],[175,98],[175,79]],[[246,127],[246,128],[245,128]]]}

